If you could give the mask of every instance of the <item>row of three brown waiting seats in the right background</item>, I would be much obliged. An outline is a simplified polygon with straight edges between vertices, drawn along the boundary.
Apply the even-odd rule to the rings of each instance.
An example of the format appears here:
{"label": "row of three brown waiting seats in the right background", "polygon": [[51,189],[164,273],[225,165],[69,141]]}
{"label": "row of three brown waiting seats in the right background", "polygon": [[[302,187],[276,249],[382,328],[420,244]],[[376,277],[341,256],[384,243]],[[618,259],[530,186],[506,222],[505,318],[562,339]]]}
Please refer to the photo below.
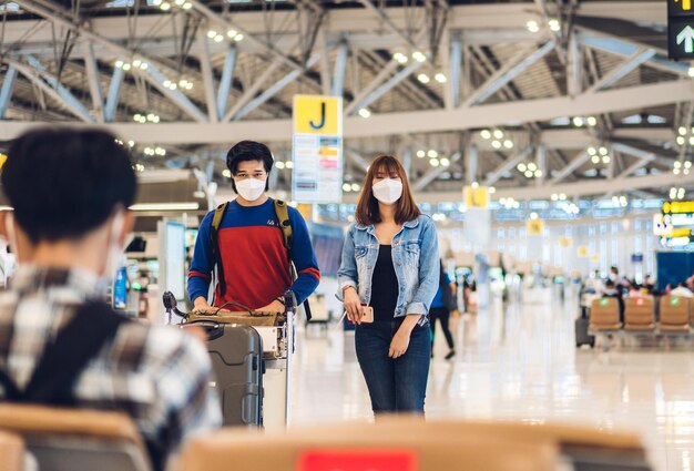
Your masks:
{"label": "row of three brown waiting seats in the right background", "polygon": [[660,319],[656,322],[655,300],[652,296],[624,298],[624,322],[620,318],[616,298],[594,299],[590,311],[593,332],[692,332],[691,299],[682,296],[660,298]]}

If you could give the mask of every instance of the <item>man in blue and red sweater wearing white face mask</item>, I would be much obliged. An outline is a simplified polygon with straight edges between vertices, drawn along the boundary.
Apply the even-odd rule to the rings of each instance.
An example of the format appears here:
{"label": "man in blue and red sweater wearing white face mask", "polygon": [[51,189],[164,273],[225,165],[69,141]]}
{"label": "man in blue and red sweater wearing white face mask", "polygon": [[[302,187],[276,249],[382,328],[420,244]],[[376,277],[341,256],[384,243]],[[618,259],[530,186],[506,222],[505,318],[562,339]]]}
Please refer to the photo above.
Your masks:
{"label": "man in blue and red sweater wearing white face mask", "polygon": [[[191,270],[188,295],[198,311],[213,309],[207,300],[216,266],[217,286],[213,306],[239,303],[255,310],[284,311],[283,295],[290,289],[304,303],[316,289],[320,272],[314,255],[306,222],[298,211],[288,209],[292,247],[285,247],[278,208],[267,195],[274,158],[262,143],[243,141],[226,156],[236,199],[221,207],[215,227],[215,211],[203,219]],[[296,267],[296,280],[290,264]]]}

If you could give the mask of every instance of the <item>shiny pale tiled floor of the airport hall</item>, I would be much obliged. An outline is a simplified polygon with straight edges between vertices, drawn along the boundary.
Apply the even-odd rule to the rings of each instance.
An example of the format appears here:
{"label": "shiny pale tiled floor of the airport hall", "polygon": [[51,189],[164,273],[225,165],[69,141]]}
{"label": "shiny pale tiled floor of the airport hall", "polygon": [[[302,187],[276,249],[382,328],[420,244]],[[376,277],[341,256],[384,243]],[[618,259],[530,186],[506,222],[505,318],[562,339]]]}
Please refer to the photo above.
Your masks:
{"label": "shiny pale tiled floor of the airport hall", "polygon": [[[544,301],[465,315],[453,324],[457,357],[437,336],[427,392],[429,418],[589,423],[639,431],[660,471],[694,467],[694,348],[687,345],[576,350],[576,306]],[[300,332],[293,423],[369,420],[354,335]],[[694,340],[692,341],[694,345]]]}

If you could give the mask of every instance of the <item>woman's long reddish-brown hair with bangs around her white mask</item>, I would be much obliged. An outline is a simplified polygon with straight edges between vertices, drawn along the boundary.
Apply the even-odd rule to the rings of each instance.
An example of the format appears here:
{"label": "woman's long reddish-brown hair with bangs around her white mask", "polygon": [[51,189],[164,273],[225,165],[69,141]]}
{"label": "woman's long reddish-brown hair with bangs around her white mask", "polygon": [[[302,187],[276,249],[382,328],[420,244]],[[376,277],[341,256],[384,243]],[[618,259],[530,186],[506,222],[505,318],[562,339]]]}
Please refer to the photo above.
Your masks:
{"label": "woman's long reddish-brown hair with bangs around her white mask", "polygon": [[374,185],[374,178],[378,171],[384,168],[388,175],[397,173],[402,182],[402,196],[396,204],[395,222],[397,224],[405,224],[408,221],[416,219],[421,212],[415,203],[412,192],[410,191],[410,184],[407,180],[407,173],[405,167],[392,155],[379,155],[376,157],[369,166],[366,176],[364,177],[364,185],[361,186],[361,194],[359,195],[359,202],[357,203],[357,214],[355,218],[357,223],[364,226],[370,226],[381,222],[380,212],[378,209],[378,199],[374,196],[371,185]]}

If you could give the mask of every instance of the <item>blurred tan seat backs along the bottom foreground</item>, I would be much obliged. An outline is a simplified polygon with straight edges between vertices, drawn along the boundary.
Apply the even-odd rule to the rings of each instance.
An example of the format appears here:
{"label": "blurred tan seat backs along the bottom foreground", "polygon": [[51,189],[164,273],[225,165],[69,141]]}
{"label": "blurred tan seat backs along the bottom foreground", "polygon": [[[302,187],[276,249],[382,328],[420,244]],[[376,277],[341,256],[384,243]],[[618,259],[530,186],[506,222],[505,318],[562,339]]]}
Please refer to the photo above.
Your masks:
{"label": "blurred tan seat backs along the bottom foreground", "polygon": [[[4,447],[4,448],[3,448]],[[116,412],[0,405],[0,471],[150,471],[130,418]],[[96,454],[95,454],[96,452]],[[571,464],[569,467],[568,464]],[[192,439],[175,471],[398,469],[418,471],[649,471],[629,432],[521,422],[425,421],[296,428],[284,433],[226,429]]]}

